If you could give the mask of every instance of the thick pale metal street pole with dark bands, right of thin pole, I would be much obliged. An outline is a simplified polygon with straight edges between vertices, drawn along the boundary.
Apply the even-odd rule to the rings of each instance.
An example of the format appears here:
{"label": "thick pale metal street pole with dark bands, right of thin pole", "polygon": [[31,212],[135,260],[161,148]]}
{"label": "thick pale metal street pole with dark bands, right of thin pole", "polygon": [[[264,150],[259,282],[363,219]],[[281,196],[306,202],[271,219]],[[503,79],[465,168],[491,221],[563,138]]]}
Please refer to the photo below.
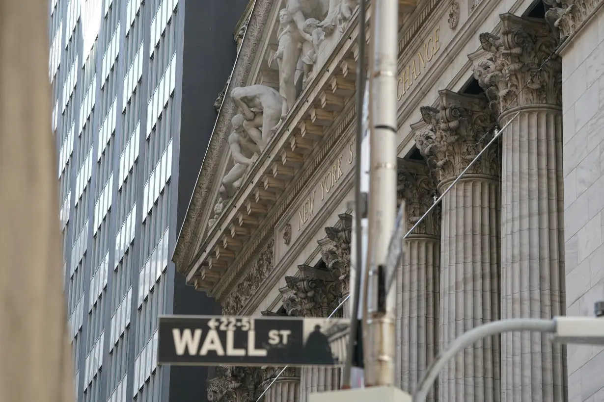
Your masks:
{"label": "thick pale metal street pole with dark bands, right of thin pole", "polygon": [[365,385],[394,385],[395,295],[385,292],[388,243],[396,220],[396,76],[398,0],[373,2],[370,71],[370,283],[366,328]]}

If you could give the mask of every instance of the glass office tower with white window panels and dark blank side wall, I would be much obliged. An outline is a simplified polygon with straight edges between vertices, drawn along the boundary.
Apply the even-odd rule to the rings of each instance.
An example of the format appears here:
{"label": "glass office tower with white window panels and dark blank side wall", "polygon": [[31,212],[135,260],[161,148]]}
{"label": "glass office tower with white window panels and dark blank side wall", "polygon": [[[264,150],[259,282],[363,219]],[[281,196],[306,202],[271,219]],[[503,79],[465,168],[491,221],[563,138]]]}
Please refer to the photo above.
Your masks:
{"label": "glass office tower with white window panels and dark blank side wall", "polygon": [[156,329],[161,314],[216,312],[175,278],[170,259],[247,1],[225,3],[50,1],[52,127],[79,402],[205,395],[205,369],[156,365]]}

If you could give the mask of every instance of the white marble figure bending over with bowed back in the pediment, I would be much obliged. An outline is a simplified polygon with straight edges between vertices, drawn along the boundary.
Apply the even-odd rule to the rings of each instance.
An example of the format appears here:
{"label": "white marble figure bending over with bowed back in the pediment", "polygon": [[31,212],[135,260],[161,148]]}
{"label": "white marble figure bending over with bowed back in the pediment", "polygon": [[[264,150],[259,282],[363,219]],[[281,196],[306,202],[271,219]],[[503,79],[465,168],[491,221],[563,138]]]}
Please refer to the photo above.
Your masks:
{"label": "white marble figure bending over with bowed back in the pediment", "polygon": [[283,98],[276,90],[260,84],[234,88],[231,98],[245,118],[245,132],[262,153],[271,139],[272,130],[281,120]]}

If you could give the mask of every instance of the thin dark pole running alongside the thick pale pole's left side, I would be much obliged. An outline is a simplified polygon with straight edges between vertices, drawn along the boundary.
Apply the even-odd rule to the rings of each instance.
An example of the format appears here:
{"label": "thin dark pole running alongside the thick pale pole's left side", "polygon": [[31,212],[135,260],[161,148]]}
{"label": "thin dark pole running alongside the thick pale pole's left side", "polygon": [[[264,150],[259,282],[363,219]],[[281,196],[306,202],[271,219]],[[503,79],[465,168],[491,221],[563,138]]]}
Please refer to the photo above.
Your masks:
{"label": "thin dark pole running alongside the thick pale pole's left side", "polygon": [[358,315],[359,315],[359,292],[361,292],[361,266],[363,258],[363,250],[361,247],[362,229],[361,229],[361,213],[365,209],[364,198],[361,193],[361,143],[363,141],[363,99],[365,95],[365,10],[367,10],[366,0],[359,2],[359,60],[356,63],[356,172],[355,172],[355,271],[354,281],[350,284],[350,294],[353,295],[350,303],[350,335],[348,344],[348,353],[346,355],[346,365],[344,366],[344,378],[342,388],[350,388],[350,371],[355,354],[356,344],[358,343]]}

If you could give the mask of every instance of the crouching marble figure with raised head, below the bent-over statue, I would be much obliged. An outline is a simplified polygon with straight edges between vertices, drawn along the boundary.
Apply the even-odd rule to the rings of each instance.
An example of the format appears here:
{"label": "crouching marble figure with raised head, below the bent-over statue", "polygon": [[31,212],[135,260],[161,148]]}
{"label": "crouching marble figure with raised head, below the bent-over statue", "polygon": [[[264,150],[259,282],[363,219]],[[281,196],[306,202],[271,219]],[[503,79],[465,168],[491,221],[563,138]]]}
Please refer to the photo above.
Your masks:
{"label": "crouching marble figure with raised head, below the bent-over statue", "polygon": [[249,166],[258,159],[260,148],[246,133],[243,128],[245,118],[242,115],[235,115],[231,119],[233,124],[233,132],[228,137],[228,145],[231,148],[231,156],[235,161],[235,165],[222,178],[222,186],[220,186],[220,195],[222,198],[231,198],[241,185],[241,180],[248,170]]}

